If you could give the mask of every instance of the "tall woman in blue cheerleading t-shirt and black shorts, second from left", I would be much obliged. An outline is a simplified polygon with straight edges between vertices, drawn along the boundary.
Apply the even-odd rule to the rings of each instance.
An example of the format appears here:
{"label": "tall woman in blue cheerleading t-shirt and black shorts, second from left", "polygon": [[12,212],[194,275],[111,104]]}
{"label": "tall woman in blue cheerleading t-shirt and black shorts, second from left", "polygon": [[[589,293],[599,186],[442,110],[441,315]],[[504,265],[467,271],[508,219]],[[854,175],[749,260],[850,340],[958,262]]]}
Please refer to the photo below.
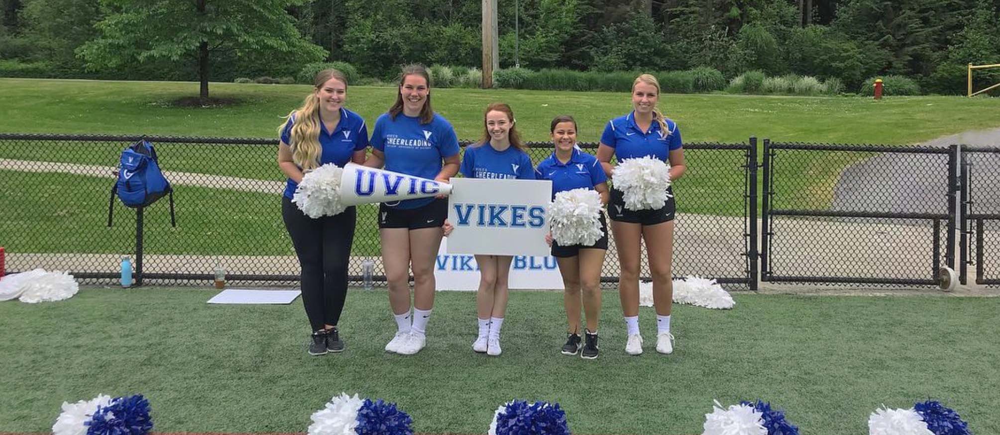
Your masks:
{"label": "tall woman in blue cheerleading t-shirt and black shorts, second from left", "polygon": [[[399,78],[396,102],[372,129],[370,168],[448,183],[458,172],[460,151],[455,129],[431,109],[427,69],[411,65]],[[389,284],[389,306],[396,334],[385,350],[412,355],[427,343],[427,323],[434,306],[434,259],[441,245],[448,200],[421,198],[379,205],[382,264]],[[410,313],[410,270],[413,313]]]}

